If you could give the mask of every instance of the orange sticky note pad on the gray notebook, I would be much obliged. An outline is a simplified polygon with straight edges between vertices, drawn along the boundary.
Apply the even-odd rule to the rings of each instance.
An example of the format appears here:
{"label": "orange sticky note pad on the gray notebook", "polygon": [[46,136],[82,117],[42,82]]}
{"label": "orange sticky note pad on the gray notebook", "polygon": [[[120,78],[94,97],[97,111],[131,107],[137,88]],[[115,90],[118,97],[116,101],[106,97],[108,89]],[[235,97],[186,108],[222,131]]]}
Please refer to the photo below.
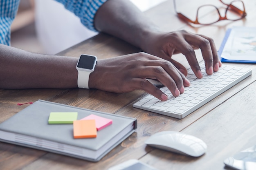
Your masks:
{"label": "orange sticky note pad on the gray notebook", "polygon": [[75,120],[73,121],[74,138],[94,138],[97,137],[95,120]]}

